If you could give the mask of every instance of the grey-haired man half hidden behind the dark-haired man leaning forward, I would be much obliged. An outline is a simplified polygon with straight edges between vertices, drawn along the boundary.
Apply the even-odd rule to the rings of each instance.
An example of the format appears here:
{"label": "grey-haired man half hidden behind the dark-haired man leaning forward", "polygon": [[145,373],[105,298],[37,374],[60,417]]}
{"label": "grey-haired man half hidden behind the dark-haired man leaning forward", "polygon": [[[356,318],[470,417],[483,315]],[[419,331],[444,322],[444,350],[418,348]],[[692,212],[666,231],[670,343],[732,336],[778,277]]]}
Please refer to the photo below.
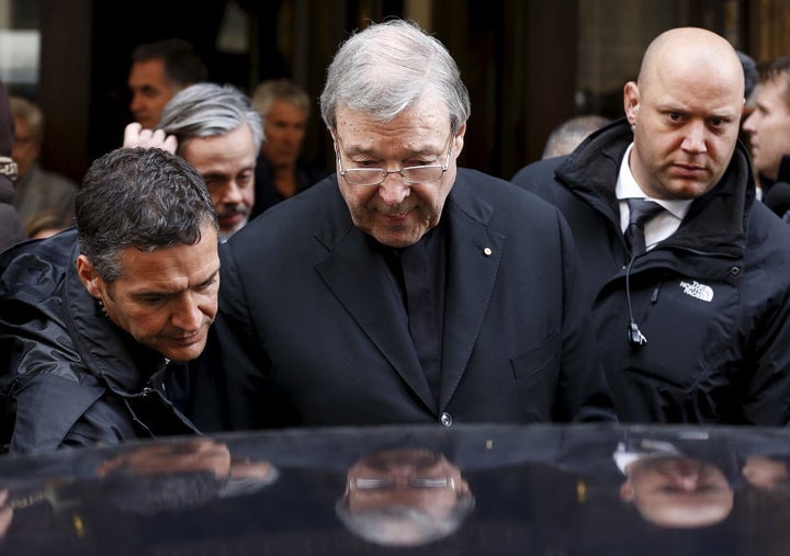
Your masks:
{"label": "grey-haired man half hidden behind the dark-haired man leaning forward", "polygon": [[[195,83],[167,103],[157,129],[171,136],[176,143],[170,150],[203,175],[219,217],[219,239],[226,240],[247,224],[255,203],[256,159],[263,140],[260,114],[230,84]],[[129,124],[124,146],[165,147],[154,136],[154,131]]]}

